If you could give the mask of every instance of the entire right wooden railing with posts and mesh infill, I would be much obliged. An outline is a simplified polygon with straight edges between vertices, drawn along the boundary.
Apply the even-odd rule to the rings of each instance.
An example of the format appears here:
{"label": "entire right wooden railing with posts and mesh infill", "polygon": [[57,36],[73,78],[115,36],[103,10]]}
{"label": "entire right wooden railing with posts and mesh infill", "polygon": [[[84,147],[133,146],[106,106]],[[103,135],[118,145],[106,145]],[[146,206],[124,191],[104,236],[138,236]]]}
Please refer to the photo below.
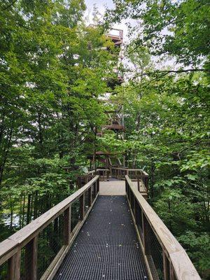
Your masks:
{"label": "entire right wooden railing with posts and mesh infill", "polygon": [[125,176],[127,200],[152,279],[200,280],[186,251]]}

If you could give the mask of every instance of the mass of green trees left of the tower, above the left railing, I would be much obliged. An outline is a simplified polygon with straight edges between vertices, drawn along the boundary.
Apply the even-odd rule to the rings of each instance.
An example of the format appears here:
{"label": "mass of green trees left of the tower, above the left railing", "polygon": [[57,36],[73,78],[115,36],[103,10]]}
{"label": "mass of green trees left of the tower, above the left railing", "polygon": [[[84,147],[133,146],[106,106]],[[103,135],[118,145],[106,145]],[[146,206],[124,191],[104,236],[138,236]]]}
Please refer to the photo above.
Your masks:
{"label": "mass of green trees left of the tower, above the left railing", "polygon": [[118,57],[84,10],[83,0],[0,0],[1,239],[71,194],[104,122],[98,99]]}

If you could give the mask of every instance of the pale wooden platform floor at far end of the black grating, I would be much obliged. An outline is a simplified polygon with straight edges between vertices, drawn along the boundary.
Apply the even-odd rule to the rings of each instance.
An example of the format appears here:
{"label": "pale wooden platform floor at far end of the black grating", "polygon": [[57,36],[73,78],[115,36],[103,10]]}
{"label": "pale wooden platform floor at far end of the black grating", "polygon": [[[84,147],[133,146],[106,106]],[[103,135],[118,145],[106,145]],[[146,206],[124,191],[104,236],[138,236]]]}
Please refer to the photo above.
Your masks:
{"label": "pale wooden platform floor at far end of the black grating", "polygon": [[[137,181],[132,182],[137,188]],[[146,188],[140,183],[140,193],[144,197],[147,197]],[[125,181],[113,180],[101,181],[99,188],[99,195],[125,195]]]}

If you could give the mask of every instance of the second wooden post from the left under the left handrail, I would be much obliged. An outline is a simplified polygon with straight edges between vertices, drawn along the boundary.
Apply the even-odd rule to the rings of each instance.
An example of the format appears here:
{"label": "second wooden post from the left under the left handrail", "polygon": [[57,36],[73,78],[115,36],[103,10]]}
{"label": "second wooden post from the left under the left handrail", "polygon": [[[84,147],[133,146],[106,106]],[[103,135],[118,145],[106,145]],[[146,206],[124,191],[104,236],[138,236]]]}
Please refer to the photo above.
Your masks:
{"label": "second wooden post from the left under the left handrail", "polygon": [[37,279],[38,236],[29,241],[25,248],[25,280]]}

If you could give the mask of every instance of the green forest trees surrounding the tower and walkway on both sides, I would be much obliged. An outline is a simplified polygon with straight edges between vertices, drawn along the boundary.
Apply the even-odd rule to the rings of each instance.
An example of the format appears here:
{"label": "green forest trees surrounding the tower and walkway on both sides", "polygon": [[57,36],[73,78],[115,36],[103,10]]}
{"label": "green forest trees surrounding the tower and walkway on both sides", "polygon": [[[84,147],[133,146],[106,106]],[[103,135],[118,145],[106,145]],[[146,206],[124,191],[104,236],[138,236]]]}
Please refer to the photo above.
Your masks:
{"label": "green forest trees surrounding the tower and walkway on both sides", "polygon": [[[208,279],[209,1],[113,3],[87,25],[83,0],[0,0],[0,241],[70,195],[88,155],[109,149],[149,174],[148,201]],[[105,34],[122,21],[119,62]],[[96,137],[107,92],[124,139]]]}

